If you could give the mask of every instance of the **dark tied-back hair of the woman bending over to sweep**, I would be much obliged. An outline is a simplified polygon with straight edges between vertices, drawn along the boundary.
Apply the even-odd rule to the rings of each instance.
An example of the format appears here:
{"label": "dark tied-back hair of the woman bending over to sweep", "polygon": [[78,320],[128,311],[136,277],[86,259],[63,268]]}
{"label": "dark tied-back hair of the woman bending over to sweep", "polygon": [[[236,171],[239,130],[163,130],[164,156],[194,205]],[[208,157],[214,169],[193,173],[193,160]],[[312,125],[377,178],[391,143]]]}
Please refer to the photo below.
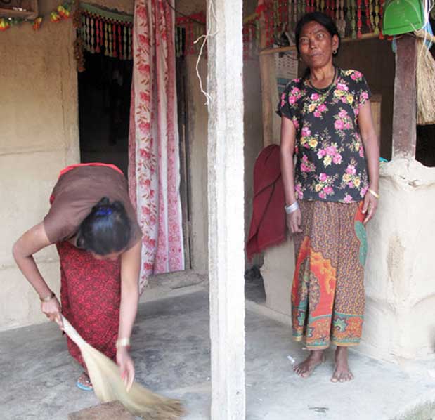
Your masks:
{"label": "dark tied-back hair of the woman bending over to sweep", "polygon": [[130,239],[130,221],[122,202],[103,197],[80,224],[77,247],[97,255],[125,249]]}

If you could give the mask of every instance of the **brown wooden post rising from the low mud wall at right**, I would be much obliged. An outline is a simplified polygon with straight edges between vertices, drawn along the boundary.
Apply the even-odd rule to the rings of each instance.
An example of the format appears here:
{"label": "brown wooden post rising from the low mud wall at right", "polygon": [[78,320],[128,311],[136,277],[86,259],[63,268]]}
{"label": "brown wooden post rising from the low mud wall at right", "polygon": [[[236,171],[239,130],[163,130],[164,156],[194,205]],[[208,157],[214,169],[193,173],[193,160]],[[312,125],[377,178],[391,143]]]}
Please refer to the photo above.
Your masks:
{"label": "brown wooden post rising from the low mud wall at right", "polygon": [[415,158],[417,123],[417,39],[405,35],[397,39],[394,78],[393,158]]}

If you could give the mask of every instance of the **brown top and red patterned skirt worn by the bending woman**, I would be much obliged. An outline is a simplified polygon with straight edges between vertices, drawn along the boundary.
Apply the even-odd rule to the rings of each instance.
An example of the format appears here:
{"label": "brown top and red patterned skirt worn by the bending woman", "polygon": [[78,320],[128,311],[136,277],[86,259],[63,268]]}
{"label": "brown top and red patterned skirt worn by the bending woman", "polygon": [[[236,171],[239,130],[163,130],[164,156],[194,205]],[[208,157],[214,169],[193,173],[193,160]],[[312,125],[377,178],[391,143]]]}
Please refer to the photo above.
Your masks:
{"label": "brown top and red patterned skirt worn by the bending woman", "polygon": [[[141,237],[129,201],[126,178],[107,164],[79,164],[60,172],[50,197],[51,209],[44,227],[60,257],[62,313],[91,346],[115,359],[121,302],[121,260],[99,260],[72,242],[80,223],[102,197],[124,203],[131,222],[127,249]],[[79,348],[67,337],[70,354],[84,365]]]}

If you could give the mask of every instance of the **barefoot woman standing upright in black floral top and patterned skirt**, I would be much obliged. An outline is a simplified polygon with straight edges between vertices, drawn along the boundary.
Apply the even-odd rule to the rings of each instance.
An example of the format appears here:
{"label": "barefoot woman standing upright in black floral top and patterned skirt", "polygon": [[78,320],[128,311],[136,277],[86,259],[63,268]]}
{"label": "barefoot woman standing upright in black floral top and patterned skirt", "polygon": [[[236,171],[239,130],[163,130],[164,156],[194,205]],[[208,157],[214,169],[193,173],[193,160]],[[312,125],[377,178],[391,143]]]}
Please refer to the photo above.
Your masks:
{"label": "barefoot woman standing upright in black floral top and patterned skirt", "polygon": [[304,15],[295,38],[308,68],[287,85],[278,105],[285,211],[296,261],[292,331],[310,350],[294,372],[309,376],[333,343],[331,381],[344,382],[353,379],[347,348],[360,342],[363,327],[365,224],[379,198],[379,146],[363,74],[332,63],[340,46],[332,19]]}

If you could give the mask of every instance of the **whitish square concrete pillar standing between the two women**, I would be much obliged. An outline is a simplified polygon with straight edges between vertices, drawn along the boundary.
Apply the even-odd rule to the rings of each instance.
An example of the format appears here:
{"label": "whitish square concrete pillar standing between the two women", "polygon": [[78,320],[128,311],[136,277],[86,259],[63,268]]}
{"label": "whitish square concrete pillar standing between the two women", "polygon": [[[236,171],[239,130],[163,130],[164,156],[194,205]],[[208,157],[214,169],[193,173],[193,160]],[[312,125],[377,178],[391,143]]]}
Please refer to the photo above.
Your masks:
{"label": "whitish square concrete pillar standing between the two women", "polygon": [[207,0],[212,420],[245,419],[242,0]]}

